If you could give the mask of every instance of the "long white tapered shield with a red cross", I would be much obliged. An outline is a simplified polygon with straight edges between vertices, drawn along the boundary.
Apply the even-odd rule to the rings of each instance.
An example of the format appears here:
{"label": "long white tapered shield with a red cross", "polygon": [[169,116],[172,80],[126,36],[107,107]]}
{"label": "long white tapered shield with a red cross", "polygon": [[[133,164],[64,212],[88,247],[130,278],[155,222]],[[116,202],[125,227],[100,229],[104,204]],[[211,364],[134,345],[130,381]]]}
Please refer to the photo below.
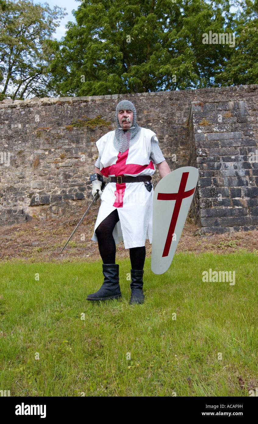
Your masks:
{"label": "long white tapered shield with a red cross", "polygon": [[171,265],[198,181],[198,169],[186,166],[162,178],[153,197],[151,270],[163,274]]}

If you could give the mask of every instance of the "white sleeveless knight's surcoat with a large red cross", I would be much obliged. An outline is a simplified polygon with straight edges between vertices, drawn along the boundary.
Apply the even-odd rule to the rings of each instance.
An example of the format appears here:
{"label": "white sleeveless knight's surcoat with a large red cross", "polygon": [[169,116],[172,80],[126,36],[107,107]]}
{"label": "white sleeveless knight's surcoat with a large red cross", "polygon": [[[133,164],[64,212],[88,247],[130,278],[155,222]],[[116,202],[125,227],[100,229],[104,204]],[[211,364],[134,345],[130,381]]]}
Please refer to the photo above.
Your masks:
{"label": "white sleeveless knight's surcoat with a large red cross", "polygon": [[[115,131],[110,131],[96,142],[100,172],[106,177],[153,175],[155,164],[150,160],[151,138],[156,139],[156,134],[148,128],[141,128],[138,141],[124,153],[114,148],[114,134]],[[92,240],[97,241],[95,230],[117,209],[119,221],[113,231],[115,243],[123,241],[125,249],[144,246],[146,239],[152,243],[153,193],[153,189],[147,191],[144,182],[108,183],[100,197]]]}

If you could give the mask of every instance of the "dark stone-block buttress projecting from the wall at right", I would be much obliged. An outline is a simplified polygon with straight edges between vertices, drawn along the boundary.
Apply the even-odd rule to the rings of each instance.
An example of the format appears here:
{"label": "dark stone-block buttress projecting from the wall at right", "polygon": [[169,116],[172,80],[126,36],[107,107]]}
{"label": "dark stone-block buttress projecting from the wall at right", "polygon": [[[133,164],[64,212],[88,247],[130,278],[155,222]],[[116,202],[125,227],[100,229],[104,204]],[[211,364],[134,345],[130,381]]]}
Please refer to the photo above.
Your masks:
{"label": "dark stone-block buttress projecting from the wall at right", "polygon": [[252,160],[252,153],[257,142],[247,102],[193,102],[190,123],[191,165],[199,168],[191,215],[201,232],[255,229],[258,160]]}

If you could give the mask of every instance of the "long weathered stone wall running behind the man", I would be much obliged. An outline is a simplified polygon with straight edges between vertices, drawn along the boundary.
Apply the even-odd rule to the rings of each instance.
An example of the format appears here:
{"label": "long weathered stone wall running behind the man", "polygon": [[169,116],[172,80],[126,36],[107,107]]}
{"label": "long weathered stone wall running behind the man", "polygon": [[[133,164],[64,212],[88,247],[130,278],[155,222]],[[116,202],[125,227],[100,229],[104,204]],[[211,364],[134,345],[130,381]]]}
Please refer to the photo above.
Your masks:
{"label": "long weathered stone wall running behind the man", "polygon": [[[0,102],[0,225],[12,225],[32,216],[42,220],[58,218],[75,210],[78,204],[87,206],[92,197],[89,176],[98,156],[95,143],[103,134],[115,128],[115,108],[123,98],[135,104],[138,124],[155,131],[172,170],[197,164],[200,172],[204,172],[200,173],[191,210],[198,225],[203,226],[203,232],[255,226],[258,215],[255,215],[257,167],[255,164],[249,168],[244,166],[248,167],[250,163],[247,154],[255,147],[258,148],[258,85],[132,95],[3,100]],[[214,104],[226,106],[220,109],[223,114],[233,111],[233,116],[228,116],[231,121],[216,122],[216,114],[220,110],[215,109]],[[241,112],[235,115],[236,111],[243,110],[245,114]],[[241,117],[246,120],[241,122]],[[210,123],[202,126],[200,120],[203,118]],[[218,125],[219,129],[216,129]],[[241,133],[241,140],[250,138],[252,144],[236,144],[235,141],[239,143],[240,139],[235,136],[230,138],[229,134],[226,139],[209,138],[213,133],[230,132]],[[200,139],[202,137],[205,138]],[[223,146],[224,151],[220,151],[223,144],[221,140],[230,140],[231,143]],[[198,149],[207,156],[200,154]],[[217,151],[212,152],[211,149]],[[243,156],[241,162],[245,162],[245,165],[241,165],[241,169],[237,170],[232,165],[235,171],[230,175],[227,173],[232,169],[226,168],[226,165],[221,170],[215,168],[215,165],[211,169],[213,163],[225,162],[223,156],[234,156],[229,153],[231,151],[235,152],[235,157]],[[210,156],[218,156],[219,161],[209,161],[207,158]],[[207,160],[202,162],[204,157]],[[233,162],[239,166],[238,160],[225,163]],[[249,170],[249,173],[243,175],[243,169]],[[158,179],[156,172],[154,184]],[[222,187],[222,180],[223,183],[227,181],[227,185]],[[243,186],[239,185],[242,183]],[[228,191],[211,191],[211,188],[216,187]],[[204,192],[205,189],[210,191]],[[254,197],[249,196],[250,192]],[[216,203],[217,194],[222,194],[224,199],[220,204]],[[226,222],[222,218],[227,217],[207,215],[215,213],[211,209],[218,207],[231,208],[233,217],[243,219]],[[236,215],[241,213],[235,212],[236,209],[242,209],[243,215]]]}

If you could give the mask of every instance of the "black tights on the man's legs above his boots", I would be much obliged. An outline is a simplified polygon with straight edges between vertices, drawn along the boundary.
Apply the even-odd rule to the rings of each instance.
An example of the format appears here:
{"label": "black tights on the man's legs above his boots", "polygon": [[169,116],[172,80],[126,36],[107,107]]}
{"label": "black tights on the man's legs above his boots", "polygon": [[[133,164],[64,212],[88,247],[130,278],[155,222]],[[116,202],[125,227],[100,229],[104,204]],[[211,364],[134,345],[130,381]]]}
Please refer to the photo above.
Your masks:
{"label": "black tights on the man's legs above his boots", "polygon": [[[95,230],[103,264],[114,264],[116,261],[116,243],[112,233],[118,221],[119,216],[117,209],[115,209]],[[129,249],[129,253],[132,269],[143,270],[146,255],[145,246],[132,247]]]}

